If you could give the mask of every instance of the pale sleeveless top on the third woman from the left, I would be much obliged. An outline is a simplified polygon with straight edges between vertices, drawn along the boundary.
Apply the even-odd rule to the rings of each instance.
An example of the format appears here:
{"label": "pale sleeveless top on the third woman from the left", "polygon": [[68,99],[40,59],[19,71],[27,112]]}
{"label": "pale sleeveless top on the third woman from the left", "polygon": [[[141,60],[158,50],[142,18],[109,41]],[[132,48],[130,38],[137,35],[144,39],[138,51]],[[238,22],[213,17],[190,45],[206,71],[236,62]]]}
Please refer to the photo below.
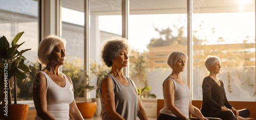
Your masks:
{"label": "pale sleeveless top on the third woman from the left", "polygon": [[[171,77],[168,77],[165,80],[167,80],[169,78],[174,81],[174,89],[175,89],[174,105],[181,111],[181,113],[185,117],[188,118],[189,117],[188,105],[189,105],[189,100],[191,97],[189,88],[187,87],[185,82],[184,82],[184,84],[179,84]],[[165,80],[164,80],[164,82],[165,82]],[[163,90],[163,98],[164,98],[164,107],[160,110],[160,113],[167,114],[170,116],[175,116],[174,113],[172,113],[170,110],[167,109],[167,103],[166,103],[166,99],[165,99],[165,95],[164,95],[164,90]],[[175,116],[175,117],[177,117],[177,116]]]}

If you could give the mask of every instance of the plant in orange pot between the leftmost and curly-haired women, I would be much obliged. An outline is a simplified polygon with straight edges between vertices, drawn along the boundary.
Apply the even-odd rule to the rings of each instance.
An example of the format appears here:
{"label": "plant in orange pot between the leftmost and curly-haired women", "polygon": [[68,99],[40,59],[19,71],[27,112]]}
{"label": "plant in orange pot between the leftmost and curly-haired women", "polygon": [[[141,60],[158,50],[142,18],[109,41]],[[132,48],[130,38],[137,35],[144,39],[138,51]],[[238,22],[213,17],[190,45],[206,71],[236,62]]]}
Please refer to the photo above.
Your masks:
{"label": "plant in orange pot between the leftmost and curly-haired women", "polygon": [[[70,76],[73,82],[73,89],[74,89],[74,98],[76,100],[77,108],[79,109],[80,113],[84,118],[91,118],[96,110],[96,102],[87,102],[87,99],[84,100],[84,90],[94,89],[94,86],[90,85],[91,76],[86,75],[87,83],[83,79],[84,71],[83,71],[83,62],[78,57],[70,58],[67,56],[68,60],[65,62],[63,67],[63,73]],[[81,98],[82,97],[82,98]],[[81,101],[78,101],[78,100]]]}

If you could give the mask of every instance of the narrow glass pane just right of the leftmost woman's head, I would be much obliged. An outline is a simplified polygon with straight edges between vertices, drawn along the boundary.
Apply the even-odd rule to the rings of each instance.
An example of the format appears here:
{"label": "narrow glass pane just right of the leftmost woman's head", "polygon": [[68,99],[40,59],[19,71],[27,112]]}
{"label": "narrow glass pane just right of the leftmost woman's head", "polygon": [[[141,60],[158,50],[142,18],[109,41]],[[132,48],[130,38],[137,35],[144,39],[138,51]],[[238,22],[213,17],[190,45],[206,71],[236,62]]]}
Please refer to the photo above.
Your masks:
{"label": "narrow glass pane just right of the leftmost woman's head", "polygon": [[84,97],[84,12],[83,1],[62,1],[61,8],[62,38],[67,41],[66,61],[62,72],[72,82],[74,97]]}

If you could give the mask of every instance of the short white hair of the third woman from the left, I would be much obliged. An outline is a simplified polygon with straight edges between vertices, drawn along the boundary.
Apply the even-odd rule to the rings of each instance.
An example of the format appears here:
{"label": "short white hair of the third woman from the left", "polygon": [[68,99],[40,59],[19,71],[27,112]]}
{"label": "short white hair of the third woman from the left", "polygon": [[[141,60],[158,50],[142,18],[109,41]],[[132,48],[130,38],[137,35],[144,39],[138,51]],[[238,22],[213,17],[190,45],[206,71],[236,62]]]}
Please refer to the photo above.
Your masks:
{"label": "short white hair of the third woman from the left", "polygon": [[167,59],[167,64],[169,65],[170,68],[172,68],[172,66],[175,65],[179,61],[179,59],[182,58],[185,58],[187,61],[188,56],[182,52],[174,51],[169,55]]}

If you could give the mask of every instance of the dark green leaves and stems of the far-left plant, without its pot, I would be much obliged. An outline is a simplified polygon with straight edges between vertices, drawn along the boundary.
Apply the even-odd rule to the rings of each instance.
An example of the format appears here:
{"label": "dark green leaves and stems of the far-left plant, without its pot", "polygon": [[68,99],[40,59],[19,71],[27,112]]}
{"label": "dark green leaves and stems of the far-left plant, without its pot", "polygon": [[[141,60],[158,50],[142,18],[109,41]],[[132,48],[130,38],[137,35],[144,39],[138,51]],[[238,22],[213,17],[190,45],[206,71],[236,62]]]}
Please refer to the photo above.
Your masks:
{"label": "dark green leaves and stems of the far-left plant, without its pot", "polygon": [[[14,37],[11,43],[11,47],[5,36],[0,38],[0,76],[3,104],[12,104],[9,82],[12,76],[14,76],[14,104],[17,104],[16,77],[20,80],[25,79],[27,77],[26,72],[30,72],[28,66],[24,64],[26,58],[22,54],[31,48],[21,51],[17,50],[18,47],[25,43],[23,42],[21,44],[17,44],[19,38],[22,37],[23,34],[24,32],[21,32]],[[8,97],[6,97],[6,95],[8,95]]]}

